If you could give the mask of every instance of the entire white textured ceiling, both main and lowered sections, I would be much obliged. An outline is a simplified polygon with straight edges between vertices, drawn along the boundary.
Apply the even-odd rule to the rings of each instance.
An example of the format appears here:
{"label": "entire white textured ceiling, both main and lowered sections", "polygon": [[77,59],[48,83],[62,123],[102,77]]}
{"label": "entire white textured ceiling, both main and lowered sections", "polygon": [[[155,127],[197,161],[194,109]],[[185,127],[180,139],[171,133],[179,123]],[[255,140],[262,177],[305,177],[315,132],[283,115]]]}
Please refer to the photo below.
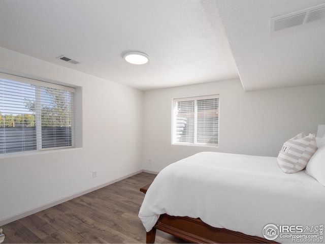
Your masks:
{"label": "entire white textured ceiling, both main and lowered sections", "polygon": [[[271,17],[322,3],[1,0],[0,46],[142,90],[238,77],[245,90],[325,84],[325,20],[269,34]],[[127,51],[150,62],[128,64]]]}

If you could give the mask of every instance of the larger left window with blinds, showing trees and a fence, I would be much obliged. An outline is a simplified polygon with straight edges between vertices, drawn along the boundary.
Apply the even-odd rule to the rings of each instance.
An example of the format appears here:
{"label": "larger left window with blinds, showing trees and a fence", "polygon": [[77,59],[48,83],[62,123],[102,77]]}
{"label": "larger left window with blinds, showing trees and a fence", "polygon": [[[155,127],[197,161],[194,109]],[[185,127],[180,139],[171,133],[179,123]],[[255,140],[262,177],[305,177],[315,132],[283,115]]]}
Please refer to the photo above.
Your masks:
{"label": "larger left window with blinds, showing trees and a fence", "polygon": [[74,93],[0,73],[0,154],[73,147]]}

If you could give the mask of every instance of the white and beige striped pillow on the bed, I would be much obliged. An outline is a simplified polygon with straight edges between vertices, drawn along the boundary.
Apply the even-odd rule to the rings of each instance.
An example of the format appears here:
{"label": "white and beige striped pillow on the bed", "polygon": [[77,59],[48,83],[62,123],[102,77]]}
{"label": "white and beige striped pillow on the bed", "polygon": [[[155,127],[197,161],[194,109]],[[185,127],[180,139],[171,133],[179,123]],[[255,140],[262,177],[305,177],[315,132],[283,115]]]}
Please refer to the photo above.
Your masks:
{"label": "white and beige striped pillow on the bed", "polygon": [[278,165],[284,173],[292,174],[303,170],[317,150],[314,134],[300,133],[284,142],[278,155]]}

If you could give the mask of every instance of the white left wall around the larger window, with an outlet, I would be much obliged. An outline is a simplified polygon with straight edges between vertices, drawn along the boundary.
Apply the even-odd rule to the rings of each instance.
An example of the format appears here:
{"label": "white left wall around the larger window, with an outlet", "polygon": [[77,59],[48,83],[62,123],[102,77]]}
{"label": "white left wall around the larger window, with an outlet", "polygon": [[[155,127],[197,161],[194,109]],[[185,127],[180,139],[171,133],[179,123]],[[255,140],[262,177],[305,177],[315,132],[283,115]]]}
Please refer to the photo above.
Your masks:
{"label": "white left wall around the larger window, with an outlet", "polygon": [[142,170],[143,92],[4,48],[0,68],[75,85],[82,98],[78,148],[0,156],[0,226]]}

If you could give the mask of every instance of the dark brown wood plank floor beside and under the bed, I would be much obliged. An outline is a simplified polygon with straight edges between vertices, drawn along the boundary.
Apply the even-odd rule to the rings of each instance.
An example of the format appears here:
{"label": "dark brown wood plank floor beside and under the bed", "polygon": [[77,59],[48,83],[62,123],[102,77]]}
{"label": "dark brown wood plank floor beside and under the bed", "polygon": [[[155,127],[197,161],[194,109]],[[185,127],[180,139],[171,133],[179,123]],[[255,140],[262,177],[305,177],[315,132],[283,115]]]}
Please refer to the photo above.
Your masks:
{"label": "dark brown wood plank floor beside and under the bed", "polygon": [[[2,226],[4,243],[145,243],[139,189],[154,177],[140,173]],[[155,243],[178,242],[157,231]]]}

